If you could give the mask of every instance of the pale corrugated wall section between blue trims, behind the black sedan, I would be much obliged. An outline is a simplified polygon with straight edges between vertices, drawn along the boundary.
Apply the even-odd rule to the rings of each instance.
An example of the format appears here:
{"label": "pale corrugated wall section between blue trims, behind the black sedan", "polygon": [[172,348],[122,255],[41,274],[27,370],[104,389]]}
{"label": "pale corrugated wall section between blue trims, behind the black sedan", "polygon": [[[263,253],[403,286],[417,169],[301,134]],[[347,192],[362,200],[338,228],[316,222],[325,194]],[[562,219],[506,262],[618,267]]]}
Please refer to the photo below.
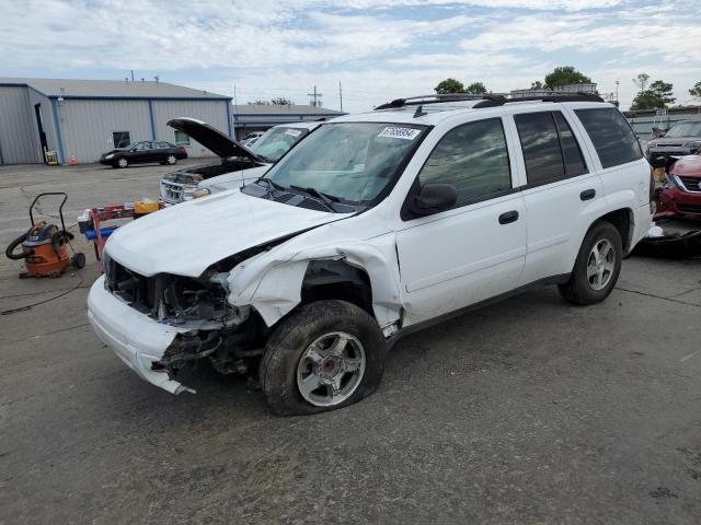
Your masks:
{"label": "pale corrugated wall section between blue trims, behind the black sedan", "polygon": [[131,142],[151,140],[151,121],[147,101],[108,101],[67,98],[57,106],[68,162],[95,162],[114,148],[112,133],[129,131]]}

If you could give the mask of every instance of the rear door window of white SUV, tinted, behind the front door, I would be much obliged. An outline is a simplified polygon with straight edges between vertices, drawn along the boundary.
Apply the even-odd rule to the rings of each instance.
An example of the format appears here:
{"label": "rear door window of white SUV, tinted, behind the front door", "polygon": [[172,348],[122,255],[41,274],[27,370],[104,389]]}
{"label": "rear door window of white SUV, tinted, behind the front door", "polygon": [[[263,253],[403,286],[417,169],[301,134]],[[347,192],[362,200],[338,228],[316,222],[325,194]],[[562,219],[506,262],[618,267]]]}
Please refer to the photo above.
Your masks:
{"label": "rear door window of white SUV, tinted, behind the front door", "polygon": [[515,115],[528,184],[541,184],[587,173],[572,128],[560,112]]}

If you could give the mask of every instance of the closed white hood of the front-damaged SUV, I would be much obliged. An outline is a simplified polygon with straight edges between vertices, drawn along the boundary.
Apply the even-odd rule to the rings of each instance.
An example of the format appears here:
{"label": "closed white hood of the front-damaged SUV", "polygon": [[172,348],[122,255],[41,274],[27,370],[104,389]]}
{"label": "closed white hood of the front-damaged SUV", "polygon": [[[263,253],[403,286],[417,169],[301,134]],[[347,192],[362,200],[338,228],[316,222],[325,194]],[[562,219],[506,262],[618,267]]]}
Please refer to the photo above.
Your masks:
{"label": "closed white hood of the front-damaged SUV", "polygon": [[239,190],[183,202],[117,229],[106,250],[142,276],[197,277],[246,248],[352,217],[297,208]]}

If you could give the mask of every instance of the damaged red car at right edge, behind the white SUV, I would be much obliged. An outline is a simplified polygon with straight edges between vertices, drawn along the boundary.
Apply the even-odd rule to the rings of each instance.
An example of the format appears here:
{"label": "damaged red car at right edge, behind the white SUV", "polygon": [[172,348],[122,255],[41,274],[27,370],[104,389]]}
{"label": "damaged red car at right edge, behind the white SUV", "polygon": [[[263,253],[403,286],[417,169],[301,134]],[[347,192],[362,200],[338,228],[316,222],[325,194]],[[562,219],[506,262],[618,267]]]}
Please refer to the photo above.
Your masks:
{"label": "damaged red car at right edge, behind the white SUV", "polygon": [[682,156],[669,168],[655,218],[665,217],[701,219],[701,155]]}

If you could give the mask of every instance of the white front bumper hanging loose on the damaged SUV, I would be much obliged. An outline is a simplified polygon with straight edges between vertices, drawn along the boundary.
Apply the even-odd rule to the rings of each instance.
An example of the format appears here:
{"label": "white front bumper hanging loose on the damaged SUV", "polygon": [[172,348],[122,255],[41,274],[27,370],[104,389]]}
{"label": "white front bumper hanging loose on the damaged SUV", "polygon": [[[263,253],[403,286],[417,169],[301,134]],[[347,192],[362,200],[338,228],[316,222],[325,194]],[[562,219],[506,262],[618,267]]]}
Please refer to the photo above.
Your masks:
{"label": "white front bumper hanging loose on the damaged SUV", "polygon": [[104,276],[97,279],[88,295],[88,319],[102,342],[141,378],[171,394],[194,390],[172,381],[166,372],[152,370],[177,334],[187,331],[162,325],[134,310],[104,287]]}

